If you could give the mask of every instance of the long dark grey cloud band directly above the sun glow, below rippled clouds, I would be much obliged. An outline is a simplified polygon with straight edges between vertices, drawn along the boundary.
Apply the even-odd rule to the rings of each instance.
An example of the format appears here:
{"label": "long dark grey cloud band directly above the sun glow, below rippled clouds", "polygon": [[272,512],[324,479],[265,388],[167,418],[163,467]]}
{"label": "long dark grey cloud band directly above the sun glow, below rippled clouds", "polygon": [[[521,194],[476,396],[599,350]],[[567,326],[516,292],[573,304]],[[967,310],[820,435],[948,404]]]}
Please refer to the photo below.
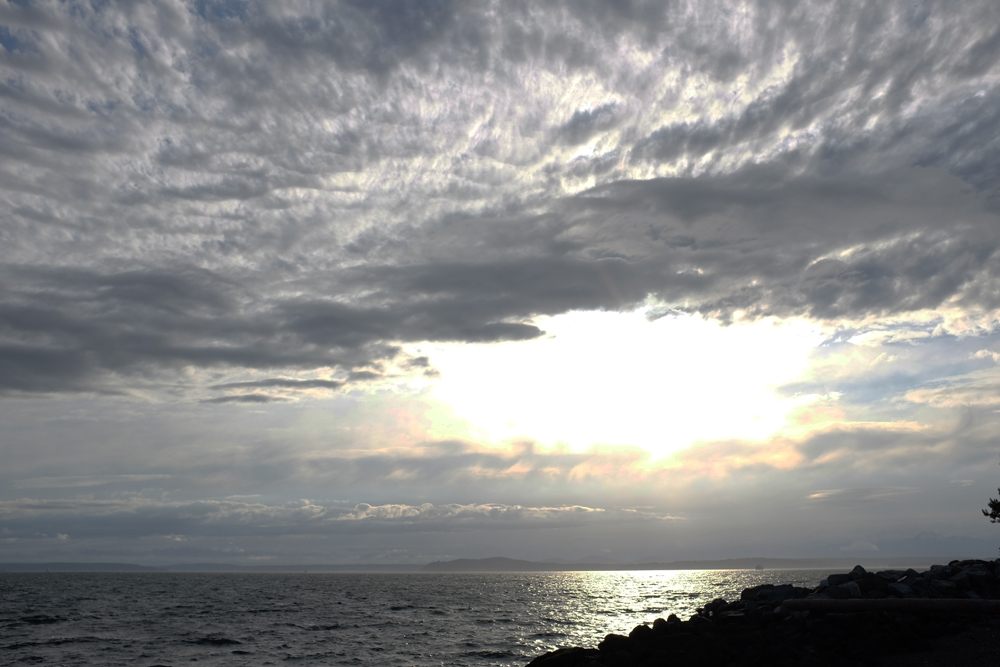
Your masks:
{"label": "long dark grey cloud band directly above the sun glow, below rippled clouds", "polygon": [[933,170],[875,179],[747,168],[622,181],[499,227],[403,230],[372,247],[380,261],[322,273],[12,266],[2,385],[112,391],[113,376],[185,366],[342,367],[374,379],[364,367],[394,358],[399,343],[526,340],[541,334],[532,317],[629,309],[651,295],[723,320],[987,311],[1000,306],[995,223]]}

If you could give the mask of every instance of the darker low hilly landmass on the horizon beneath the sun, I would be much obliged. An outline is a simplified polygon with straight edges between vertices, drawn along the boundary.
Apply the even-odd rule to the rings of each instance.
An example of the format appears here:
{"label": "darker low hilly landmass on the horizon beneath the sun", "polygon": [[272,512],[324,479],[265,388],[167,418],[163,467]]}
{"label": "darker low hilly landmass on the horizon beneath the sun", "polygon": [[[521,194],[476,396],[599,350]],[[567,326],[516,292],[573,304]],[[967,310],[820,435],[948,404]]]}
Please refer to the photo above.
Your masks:
{"label": "darker low hilly landmass on the horizon beneath the sun", "polygon": [[[861,564],[870,568],[927,567],[947,562],[950,557],[868,558]],[[725,560],[675,560],[662,563],[548,563],[516,558],[460,558],[435,561],[421,568],[423,572],[611,572],[620,570],[822,570],[853,567],[857,558],[728,558]]]}

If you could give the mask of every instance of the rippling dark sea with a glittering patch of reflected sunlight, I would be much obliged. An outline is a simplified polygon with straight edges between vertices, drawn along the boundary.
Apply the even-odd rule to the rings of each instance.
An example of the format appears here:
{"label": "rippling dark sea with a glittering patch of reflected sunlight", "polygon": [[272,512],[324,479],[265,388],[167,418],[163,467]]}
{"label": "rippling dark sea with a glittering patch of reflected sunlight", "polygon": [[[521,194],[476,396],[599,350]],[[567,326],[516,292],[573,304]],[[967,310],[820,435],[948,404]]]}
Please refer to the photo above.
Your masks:
{"label": "rippling dark sea with a glittering patch of reflected sunlight", "polygon": [[525,665],[827,571],[2,573],[0,664]]}

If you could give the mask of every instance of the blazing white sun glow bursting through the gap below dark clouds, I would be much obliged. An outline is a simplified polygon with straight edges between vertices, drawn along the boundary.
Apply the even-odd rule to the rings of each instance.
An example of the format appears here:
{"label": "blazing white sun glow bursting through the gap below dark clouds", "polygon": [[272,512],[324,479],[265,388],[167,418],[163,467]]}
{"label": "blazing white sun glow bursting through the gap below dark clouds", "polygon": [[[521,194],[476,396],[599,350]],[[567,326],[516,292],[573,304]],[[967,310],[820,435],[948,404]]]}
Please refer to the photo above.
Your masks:
{"label": "blazing white sun glow bursting through the gap below dark clouds", "polygon": [[526,343],[423,348],[442,373],[433,396],[490,440],[636,445],[659,457],[775,433],[803,399],[783,400],[773,387],[802,373],[822,340],[802,322],[650,322],[644,311],[537,323],[546,335]]}

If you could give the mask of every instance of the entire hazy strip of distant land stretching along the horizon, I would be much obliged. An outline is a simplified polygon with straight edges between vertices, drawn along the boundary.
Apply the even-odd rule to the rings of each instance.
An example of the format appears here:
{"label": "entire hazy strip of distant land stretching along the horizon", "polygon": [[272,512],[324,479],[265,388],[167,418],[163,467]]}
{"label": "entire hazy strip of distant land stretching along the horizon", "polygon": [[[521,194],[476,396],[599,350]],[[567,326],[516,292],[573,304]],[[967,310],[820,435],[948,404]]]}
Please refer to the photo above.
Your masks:
{"label": "entire hazy strip of distant land stretching along the horizon", "polygon": [[613,572],[628,570],[819,570],[868,568],[918,568],[947,563],[953,556],[900,558],[728,558],[724,560],[675,560],[652,563],[555,563],[516,558],[459,558],[426,565],[310,564],[234,565],[229,563],[184,563],[147,566],[128,563],[0,563],[3,572]]}

